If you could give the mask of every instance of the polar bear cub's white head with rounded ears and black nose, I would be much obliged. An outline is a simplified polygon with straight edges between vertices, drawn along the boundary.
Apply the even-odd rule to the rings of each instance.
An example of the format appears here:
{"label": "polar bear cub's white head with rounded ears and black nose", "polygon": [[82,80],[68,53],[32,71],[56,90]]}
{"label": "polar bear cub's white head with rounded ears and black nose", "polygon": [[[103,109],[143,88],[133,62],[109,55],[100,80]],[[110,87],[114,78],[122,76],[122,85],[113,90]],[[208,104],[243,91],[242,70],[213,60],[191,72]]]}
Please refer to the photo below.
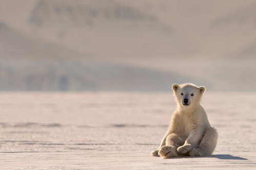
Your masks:
{"label": "polar bear cub's white head with rounded ears and black nose", "polygon": [[182,108],[195,107],[200,104],[205,87],[195,84],[173,84],[173,91],[177,104]]}

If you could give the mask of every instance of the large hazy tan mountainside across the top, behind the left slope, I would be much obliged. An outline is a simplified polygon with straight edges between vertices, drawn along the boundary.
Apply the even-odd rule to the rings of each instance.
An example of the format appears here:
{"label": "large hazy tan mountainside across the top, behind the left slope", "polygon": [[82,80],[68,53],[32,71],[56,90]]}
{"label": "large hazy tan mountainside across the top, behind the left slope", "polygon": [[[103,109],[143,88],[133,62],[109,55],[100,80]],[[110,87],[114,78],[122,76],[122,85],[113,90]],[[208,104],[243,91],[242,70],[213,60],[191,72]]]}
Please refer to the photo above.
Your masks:
{"label": "large hazy tan mountainside across the top, behind the left slope", "polygon": [[222,59],[255,55],[251,50],[256,41],[253,0],[0,3],[0,21],[12,28],[96,58],[130,62],[138,58]]}

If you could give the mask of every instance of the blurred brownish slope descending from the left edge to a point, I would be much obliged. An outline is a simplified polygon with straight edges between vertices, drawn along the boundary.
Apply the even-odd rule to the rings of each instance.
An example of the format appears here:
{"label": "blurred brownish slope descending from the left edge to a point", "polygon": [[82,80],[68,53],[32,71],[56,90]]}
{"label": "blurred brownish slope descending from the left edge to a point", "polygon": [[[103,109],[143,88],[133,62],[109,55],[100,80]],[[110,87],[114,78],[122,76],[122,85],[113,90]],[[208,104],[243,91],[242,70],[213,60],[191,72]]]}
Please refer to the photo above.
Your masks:
{"label": "blurred brownish slope descending from the left edge to a point", "polygon": [[78,53],[50,42],[38,40],[0,22],[0,58],[1,59],[42,59],[70,58]]}

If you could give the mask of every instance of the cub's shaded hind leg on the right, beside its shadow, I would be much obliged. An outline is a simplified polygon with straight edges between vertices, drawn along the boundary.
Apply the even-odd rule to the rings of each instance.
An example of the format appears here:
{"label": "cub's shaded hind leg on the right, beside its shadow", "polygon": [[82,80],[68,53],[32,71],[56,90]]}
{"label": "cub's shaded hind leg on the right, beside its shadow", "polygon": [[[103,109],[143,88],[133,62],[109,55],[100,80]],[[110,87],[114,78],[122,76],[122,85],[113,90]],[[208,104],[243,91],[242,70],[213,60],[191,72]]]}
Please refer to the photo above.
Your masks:
{"label": "cub's shaded hind leg on the right, beside its shadow", "polygon": [[190,156],[209,156],[214,152],[217,145],[218,133],[215,128],[205,131],[204,137],[199,144],[198,148],[193,148],[189,151]]}

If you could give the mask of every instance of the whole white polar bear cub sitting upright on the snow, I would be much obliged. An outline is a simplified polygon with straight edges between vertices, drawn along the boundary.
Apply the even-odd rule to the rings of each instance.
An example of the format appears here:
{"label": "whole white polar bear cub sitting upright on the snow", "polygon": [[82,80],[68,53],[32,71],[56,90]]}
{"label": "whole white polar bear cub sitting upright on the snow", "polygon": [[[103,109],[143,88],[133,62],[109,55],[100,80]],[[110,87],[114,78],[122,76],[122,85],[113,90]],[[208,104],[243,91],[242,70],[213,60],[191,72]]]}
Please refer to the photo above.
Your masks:
{"label": "whole white polar bear cub sitting upright on the snow", "polygon": [[160,147],[152,155],[160,155],[162,158],[211,155],[218,134],[210,126],[206,112],[200,105],[205,87],[191,83],[174,84],[173,91],[177,109]]}

